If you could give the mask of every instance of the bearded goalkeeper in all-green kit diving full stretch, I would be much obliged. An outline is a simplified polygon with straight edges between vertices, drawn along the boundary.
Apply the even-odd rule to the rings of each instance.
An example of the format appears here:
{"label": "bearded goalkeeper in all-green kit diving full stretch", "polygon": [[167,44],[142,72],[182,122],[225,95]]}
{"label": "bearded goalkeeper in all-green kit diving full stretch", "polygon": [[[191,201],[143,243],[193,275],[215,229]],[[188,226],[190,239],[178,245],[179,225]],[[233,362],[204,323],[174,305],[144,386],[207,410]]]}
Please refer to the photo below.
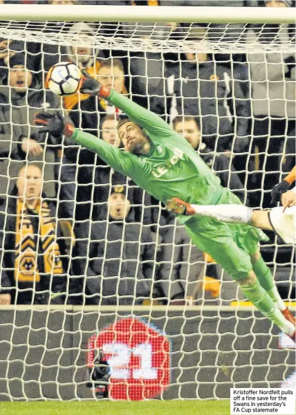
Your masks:
{"label": "bearded goalkeeper in all-green kit diving full stretch", "polygon": [[[142,189],[166,203],[177,196],[187,203],[217,205],[239,203],[239,198],[220,184],[220,179],[196,154],[192,146],[156,114],[135,102],[105,89],[84,72],[82,93],[98,95],[129,116],[118,124],[124,150],[75,129],[60,113],[35,114],[35,124],[54,136],[65,136],[100,155],[113,169],[129,176]],[[249,225],[229,224],[199,216],[179,216],[189,237],[237,280],[250,301],[281,331],[295,334],[293,315],[282,302],[258,242],[267,239]],[[286,318],[284,313],[286,313]],[[290,321],[289,321],[290,320]]]}

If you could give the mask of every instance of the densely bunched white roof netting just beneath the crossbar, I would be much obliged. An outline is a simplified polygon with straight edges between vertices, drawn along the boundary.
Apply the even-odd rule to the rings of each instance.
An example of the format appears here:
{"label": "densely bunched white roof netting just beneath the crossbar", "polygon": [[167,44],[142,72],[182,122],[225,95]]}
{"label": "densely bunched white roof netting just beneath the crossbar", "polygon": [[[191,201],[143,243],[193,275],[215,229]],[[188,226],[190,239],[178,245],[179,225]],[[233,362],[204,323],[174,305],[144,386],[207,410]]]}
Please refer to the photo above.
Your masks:
{"label": "densely bunched white roof netting just beneath the crossbar", "polygon": [[[58,24],[57,24],[58,23]],[[270,24],[262,24],[257,33],[250,34],[250,24],[188,24],[187,27],[174,24],[141,22],[88,22],[93,28],[93,37],[81,34],[81,30],[68,33],[68,23],[37,21],[0,21],[3,37],[24,39],[26,42],[42,42],[64,46],[149,52],[213,52],[250,53],[263,50],[274,53],[295,52],[295,24],[287,28],[279,25],[277,32]],[[80,33],[80,36],[77,36]],[[261,42],[258,40],[261,37]]]}

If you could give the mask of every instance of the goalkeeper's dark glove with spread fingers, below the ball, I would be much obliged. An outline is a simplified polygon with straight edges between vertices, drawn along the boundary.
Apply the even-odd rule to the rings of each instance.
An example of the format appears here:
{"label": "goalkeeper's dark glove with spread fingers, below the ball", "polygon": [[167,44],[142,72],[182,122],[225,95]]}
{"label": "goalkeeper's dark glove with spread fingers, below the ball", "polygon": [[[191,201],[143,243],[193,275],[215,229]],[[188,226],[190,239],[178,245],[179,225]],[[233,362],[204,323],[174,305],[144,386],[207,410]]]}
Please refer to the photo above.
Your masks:
{"label": "goalkeeper's dark glove with spread fingers, below the ball", "polygon": [[55,113],[39,111],[34,114],[33,124],[43,127],[39,129],[38,133],[50,133],[55,138],[61,137],[62,134],[72,136],[75,129],[72,124],[66,122],[61,111]]}

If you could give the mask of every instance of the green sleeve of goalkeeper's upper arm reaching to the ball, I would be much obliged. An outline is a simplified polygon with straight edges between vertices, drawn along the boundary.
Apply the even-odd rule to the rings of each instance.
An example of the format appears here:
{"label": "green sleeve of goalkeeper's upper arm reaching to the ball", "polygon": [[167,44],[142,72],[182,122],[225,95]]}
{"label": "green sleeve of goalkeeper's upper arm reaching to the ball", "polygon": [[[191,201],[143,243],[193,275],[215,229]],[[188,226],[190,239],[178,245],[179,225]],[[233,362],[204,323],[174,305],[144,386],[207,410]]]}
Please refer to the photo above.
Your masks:
{"label": "green sleeve of goalkeeper's upper arm reaching to the ball", "polygon": [[154,141],[154,139],[159,140],[160,138],[171,138],[172,135],[176,134],[162,118],[148,109],[140,107],[140,105],[124,97],[124,95],[112,90],[108,100],[115,107],[126,113],[133,122],[145,129],[151,141]]}

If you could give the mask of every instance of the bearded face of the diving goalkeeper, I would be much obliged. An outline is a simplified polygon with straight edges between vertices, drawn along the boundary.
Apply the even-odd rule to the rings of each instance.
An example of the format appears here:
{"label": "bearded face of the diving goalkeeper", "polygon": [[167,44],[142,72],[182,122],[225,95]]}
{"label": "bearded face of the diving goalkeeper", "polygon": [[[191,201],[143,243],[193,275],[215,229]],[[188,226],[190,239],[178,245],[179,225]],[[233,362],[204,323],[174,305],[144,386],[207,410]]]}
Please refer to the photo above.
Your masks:
{"label": "bearded face of the diving goalkeeper", "polygon": [[119,138],[124,149],[133,154],[145,154],[149,147],[149,139],[134,122],[126,122],[118,129]]}

